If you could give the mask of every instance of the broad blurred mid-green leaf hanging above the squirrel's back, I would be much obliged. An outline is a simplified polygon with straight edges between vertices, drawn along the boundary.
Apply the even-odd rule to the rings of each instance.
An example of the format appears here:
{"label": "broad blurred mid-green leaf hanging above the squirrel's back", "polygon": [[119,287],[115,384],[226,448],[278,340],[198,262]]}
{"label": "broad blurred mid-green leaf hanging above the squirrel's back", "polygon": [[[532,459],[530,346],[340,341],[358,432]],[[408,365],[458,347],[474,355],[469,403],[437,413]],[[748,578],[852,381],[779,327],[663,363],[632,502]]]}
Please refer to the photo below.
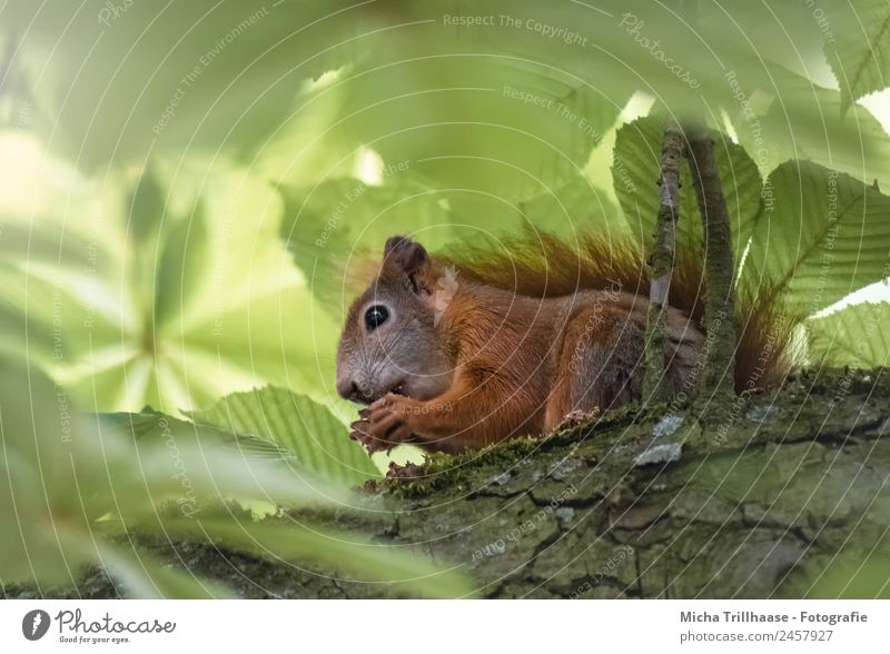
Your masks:
{"label": "broad blurred mid-green leaf hanging above the squirrel's back", "polygon": [[413,57],[426,46],[411,37],[380,46],[397,66],[348,80],[343,129],[434,188],[522,200],[561,186],[630,97],[518,58]]}

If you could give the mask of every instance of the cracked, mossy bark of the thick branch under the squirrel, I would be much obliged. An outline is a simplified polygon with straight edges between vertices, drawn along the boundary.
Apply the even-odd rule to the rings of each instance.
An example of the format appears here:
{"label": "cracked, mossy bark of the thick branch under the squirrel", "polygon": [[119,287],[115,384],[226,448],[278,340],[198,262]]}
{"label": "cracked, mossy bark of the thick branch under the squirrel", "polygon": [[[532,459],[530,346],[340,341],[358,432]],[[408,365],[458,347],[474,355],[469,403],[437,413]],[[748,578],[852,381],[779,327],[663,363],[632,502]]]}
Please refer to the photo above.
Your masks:
{"label": "cracked, mossy bark of the thick branch under the squirrel", "polygon": [[[544,440],[437,455],[423,478],[365,497],[365,517],[328,519],[458,566],[485,597],[857,595],[847,582],[869,561],[887,588],[890,375],[801,374],[730,415],[712,430],[666,406],[629,409]],[[148,546],[245,597],[398,595],[208,544]],[[50,594],[120,591],[93,571]]]}

